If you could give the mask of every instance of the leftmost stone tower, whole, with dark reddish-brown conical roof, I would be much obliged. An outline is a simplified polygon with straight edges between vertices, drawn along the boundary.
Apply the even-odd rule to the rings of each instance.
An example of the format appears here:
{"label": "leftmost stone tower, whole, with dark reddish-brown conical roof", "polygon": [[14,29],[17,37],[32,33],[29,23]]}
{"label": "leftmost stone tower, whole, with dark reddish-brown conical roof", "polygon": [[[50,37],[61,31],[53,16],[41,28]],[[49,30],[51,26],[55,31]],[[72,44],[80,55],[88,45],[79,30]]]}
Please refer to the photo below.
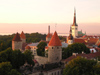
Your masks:
{"label": "leftmost stone tower, whole, with dark reddish-brown conical roof", "polygon": [[20,50],[22,49],[22,40],[18,32],[16,33],[16,35],[12,40],[12,50],[16,50],[16,49],[20,49]]}

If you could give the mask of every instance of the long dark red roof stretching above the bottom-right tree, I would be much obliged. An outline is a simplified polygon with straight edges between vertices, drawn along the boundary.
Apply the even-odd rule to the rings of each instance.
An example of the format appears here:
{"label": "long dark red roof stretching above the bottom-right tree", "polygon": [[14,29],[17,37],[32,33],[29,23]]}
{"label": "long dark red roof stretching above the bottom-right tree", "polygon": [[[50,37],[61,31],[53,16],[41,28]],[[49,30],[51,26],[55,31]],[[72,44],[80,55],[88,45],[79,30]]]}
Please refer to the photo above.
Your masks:
{"label": "long dark red roof stretching above the bottom-right tree", "polygon": [[76,56],[72,55],[71,57],[65,59],[65,62],[69,62],[72,59],[77,58],[77,56],[81,56],[81,57],[84,57],[84,58],[87,58],[87,59],[92,59],[92,58],[100,56],[100,52],[90,53],[90,54],[77,54]]}

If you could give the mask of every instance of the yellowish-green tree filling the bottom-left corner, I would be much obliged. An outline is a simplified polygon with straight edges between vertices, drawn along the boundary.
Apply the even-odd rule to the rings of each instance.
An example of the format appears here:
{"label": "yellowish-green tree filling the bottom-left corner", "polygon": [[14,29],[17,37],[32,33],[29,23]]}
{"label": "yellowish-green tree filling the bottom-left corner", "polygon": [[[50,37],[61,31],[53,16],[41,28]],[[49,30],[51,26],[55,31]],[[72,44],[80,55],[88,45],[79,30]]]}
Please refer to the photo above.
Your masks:
{"label": "yellowish-green tree filling the bottom-left corner", "polygon": [[0,75],[21,75],[17,70],[12,69],[10,62],[0,63]]}

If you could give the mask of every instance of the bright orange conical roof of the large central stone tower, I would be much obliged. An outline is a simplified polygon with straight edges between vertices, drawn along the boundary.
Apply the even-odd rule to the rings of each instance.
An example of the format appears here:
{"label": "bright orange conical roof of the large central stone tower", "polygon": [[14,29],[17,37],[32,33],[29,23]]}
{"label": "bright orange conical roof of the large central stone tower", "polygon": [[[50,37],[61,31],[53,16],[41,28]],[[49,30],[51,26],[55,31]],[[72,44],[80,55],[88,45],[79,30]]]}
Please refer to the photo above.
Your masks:
{"label": "bright orange conical roof of the large central stone tower", "polygon": [[49,42],[49,46],[62,46],[56,31]]}

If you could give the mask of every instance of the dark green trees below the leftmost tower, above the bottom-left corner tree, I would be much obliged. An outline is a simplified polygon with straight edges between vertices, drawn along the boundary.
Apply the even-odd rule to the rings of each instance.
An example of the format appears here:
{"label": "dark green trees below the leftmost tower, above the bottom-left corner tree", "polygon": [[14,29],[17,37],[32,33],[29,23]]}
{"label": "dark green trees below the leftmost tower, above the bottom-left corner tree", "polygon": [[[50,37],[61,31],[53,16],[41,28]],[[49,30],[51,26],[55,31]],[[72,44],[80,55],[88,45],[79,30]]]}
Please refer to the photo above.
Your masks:
{"label": "dark green trees below the leftmost tower, above the bottom-left corner tree", "polygon": [[12,51],[11,48],[8,48],[7,50],[0,52],[0,63],[7,61],[11,62],[13,68],[18,69],[25,63],[25,57],[20,50]]}

